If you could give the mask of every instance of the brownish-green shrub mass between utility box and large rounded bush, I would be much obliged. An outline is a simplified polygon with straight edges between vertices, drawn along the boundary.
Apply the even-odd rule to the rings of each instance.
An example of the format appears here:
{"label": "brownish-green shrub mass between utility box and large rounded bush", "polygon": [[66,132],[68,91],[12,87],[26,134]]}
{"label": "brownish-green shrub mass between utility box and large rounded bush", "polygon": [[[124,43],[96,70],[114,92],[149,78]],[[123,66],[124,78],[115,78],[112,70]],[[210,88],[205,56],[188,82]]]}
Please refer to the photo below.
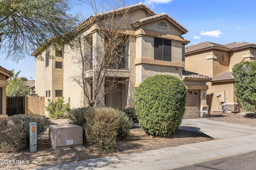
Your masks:
{"label": "brownish-green shrub mass between utility box and large rounded bush", "polygon": [[70,111],[70,123],[84,127],[86,141],[100,150],[110,150],[117,139],[127,137],[132,121],[118,109],[82,107]]}

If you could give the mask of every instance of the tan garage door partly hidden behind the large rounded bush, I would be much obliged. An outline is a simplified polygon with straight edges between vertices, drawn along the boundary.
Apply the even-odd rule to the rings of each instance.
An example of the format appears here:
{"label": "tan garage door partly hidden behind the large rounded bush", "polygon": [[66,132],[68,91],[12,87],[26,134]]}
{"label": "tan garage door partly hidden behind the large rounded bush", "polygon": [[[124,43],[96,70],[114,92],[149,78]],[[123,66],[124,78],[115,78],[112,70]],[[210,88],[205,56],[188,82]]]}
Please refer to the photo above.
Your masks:
{"label": "tan garage door partly hidden behind the large rounded bush", "polygon": [[200,90],[187,90],[184,119],[200,117]]}

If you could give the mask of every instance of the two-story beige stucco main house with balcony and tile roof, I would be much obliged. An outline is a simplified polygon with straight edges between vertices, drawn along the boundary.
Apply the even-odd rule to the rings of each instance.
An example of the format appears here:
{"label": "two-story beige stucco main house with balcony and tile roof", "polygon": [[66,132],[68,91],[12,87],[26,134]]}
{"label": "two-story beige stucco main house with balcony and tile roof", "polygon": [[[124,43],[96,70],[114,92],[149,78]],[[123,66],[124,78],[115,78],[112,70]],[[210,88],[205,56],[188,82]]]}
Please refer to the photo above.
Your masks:
{"label": "two-story beige stucco main house with balcony and tile roof", "polygon": [[[97,107],[114,107],[120,109],[134,108],[134,92],[136,88],[146,78],[156,74],[168,74],[176,76],[184,81],[188,96],[185,117],[199,117],[200,111],[206,106],[206,82],[210,78],[192,72],[182,72],[185,59],[185,45],[190,41],[182,37],[188,30],[180,25],[173,18],[165,13],[156,14],[144,4],[135,4],[125,8],[115,10],[122,12],[129,10],[129,16],[125,21],[124,33],[128,35],[127,43],[124,45],[124,53],[127,56],[118,70],[108,69],[105,80],[115,75],[119,80],[127,80],[125,84],[119,84],[119,91],[108,93],[104,96],[104,89],[108,84],[102,84],[102,90],[97,96],[100,101]],[[80,33],[85,37],[92,38],[92,43],[84,43],[89,49],[102,45],[104,35],[99,25],[93,21],[113,11],[91,16],[78,27]],[[113,19],[114,20],[114,19]],[[117,21],[118,22],[118,21]],[[124,22],[124,21],[120,21]],[[113,25],[112,25],[113,26]],[[124,28],[124,27],[122,27]],[[51,48],[51,47],[49,47]],[[38,56],[38,51],[32,53]],[[71,80],[76,70],[79,70],[74,64],[74,53],[69,51],[67,46],[61,49],[52,49],[53,60],[49,60],[45,51],[42,53],[44,61],[36,60],[35,65],[35,86],[39,96],[45,96],[54,101],[64,96],[67,100],[70,97],[71,107],[87,106],[84,100],[83,90],[78,84]],[[88,78],[92,78],[92,84],[95,83],[94,72],[96,72],[97,62],[100,60],[100,49],[91,51],[91,62],[87,70]],[[91,85],[91,90],[94,90]],[[47,104],[47,100],[46,104]]]}

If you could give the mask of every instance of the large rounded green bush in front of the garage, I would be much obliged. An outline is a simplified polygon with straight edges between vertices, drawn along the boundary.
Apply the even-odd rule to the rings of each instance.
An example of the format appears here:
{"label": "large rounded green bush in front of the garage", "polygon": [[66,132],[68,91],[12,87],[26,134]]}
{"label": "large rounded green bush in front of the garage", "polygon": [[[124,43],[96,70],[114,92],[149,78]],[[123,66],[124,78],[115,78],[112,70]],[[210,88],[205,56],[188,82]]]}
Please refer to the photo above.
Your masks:
{"label": "large rounded green bush in front of the garage", "polygon": [[150,135],[166,136],[178,131],[185,104],[184,83],[169,75],[147,78],[134,94],[134,107],[140,125]]}

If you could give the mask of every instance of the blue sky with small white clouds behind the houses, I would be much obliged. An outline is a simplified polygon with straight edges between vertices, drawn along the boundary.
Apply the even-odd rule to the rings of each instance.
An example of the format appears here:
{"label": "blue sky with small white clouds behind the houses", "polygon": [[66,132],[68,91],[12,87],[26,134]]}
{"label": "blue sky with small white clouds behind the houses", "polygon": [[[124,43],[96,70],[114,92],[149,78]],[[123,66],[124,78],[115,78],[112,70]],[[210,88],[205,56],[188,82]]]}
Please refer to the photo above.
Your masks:
{"label": "blue sky with small white clouds behind the houses", "polygon": [[[256,43],[255,0],[128,0],[127,4],[142,2],[157,14],[167,13],[188,29],[185,39],[188,45],[210,41],[219,44],[247,41]],[[85,18],[93,15],[86,6],[78,6]],[[6,61],[0,54],[0,66],[11,70],[21,70],[20,76],[34,79],[33,57],[19,61]]]}

